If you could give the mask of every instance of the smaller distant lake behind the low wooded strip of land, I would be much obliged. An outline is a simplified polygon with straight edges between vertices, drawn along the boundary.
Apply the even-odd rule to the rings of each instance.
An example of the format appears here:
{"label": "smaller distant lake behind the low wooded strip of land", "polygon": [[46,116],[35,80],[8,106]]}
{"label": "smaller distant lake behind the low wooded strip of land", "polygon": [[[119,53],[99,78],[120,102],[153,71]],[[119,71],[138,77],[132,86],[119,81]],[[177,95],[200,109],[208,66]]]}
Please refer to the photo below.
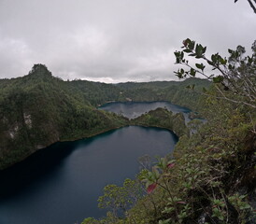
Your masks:
{"label": "smaller distant lake behind the low wooded strip of land", "polygon": [[116,102],[109,103],[107,105],[102,105],[99,108],[114,112],[116,114],[121,114],[122,116],[128,119],[135,119],[140,115],[149,112],[150,110],[154,110],[158,107],[166,108],[167,110],[172,111],[174,114],[183,113],[186,123],[191,120],[189,119],[189,113],[191,112],[189,108],[179,105],[173,105],[166,101],[125,103]]}

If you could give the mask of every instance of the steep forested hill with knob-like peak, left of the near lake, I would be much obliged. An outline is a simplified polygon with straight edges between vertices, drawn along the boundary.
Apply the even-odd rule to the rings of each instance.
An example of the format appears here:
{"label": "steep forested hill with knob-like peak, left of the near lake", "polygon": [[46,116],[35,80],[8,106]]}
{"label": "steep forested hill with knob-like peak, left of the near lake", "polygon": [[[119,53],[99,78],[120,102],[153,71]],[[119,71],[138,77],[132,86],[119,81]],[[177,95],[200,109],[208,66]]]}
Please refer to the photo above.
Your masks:
{"label": "steep forested hill with knob-like peak, left of the near lake", "polygon": [[28,76],[0,83],[0,169],[54,142],[88,137],[127,123],[97,110],[82,92],[52,77],[45,65],[35,65]]}

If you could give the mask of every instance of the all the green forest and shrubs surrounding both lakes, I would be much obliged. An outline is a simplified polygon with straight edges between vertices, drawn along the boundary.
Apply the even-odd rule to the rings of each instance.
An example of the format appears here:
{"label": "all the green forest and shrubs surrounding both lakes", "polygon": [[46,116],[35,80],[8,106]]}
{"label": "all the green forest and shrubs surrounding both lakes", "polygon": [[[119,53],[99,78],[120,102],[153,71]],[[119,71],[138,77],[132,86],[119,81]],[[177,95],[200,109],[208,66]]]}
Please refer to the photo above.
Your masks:
{"label": "all the green forest and shrubs surrounding both lakes", "polygon": [[[162,127],[179,136],[174,155],[152,165],[147,158],[141,160],[145,169],[135,180],[106,186],[99,206],[108,209],[107,217],[89,217],[83,224],[253,223],[255,109],[235,103],[247,101],[243,95],[225,90],[223,97],[220,78],[215,85],[223,91],[211,87],[203,95],[198,92],[209,85],[197,78],[118,85],[64,81],[36,64],[25,77],[0,80],[0,167],[56,141],[130,124]],[[198,110],[207,122],[202,125],[195,119],[186,127],[181,114],[165,109],[128,120],[96,108],[130,100],[171,100]]]}

